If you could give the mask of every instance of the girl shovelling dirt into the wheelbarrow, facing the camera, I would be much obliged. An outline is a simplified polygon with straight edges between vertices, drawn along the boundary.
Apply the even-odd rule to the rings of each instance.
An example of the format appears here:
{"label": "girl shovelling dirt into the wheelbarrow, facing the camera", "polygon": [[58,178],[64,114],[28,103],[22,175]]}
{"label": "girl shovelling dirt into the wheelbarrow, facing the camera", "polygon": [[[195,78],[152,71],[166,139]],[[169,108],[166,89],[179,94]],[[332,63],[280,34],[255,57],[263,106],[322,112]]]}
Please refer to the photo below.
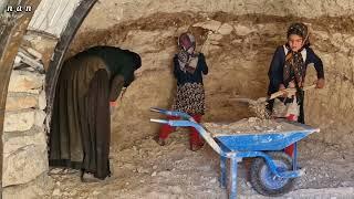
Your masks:
{"label": "girl shovelling dirt into the wheelbarrow, facing the camera", "polygon": [[[290,86],[296,87],[295,98],[300,106],[298,122],[304,124],[304,93],[301,88],[304,85],[306,67],[313,63],[317,73],[316,87],[322,88],[324,86],[323,64],[310,48],[309,29],[304,23],[292,23],[287,36],[288,42],[277,48],[270,64],[268,94],[271,95]],[[272,107],[273,101],[269,103],[268,109],[272,112]]]}

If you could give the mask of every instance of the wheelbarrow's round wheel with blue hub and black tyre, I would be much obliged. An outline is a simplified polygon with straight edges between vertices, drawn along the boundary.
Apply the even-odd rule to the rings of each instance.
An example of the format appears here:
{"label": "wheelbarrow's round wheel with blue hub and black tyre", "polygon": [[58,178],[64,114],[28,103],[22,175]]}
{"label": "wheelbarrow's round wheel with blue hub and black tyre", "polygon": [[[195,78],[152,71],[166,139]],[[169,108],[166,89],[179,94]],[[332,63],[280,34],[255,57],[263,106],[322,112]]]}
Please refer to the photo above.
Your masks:
{"label": "wheelbarrow's round wheel with blue hub and black tyre", "polygon": [[[279,171],[292,169],[292,159],[282,151],[268,153],[273,159]],[[254,158],[250,169],[250,181],[253,189],[263,196],[282,196],[294,187],[294,178],[281,178],[272,174],[266,160],[261,157]]]}

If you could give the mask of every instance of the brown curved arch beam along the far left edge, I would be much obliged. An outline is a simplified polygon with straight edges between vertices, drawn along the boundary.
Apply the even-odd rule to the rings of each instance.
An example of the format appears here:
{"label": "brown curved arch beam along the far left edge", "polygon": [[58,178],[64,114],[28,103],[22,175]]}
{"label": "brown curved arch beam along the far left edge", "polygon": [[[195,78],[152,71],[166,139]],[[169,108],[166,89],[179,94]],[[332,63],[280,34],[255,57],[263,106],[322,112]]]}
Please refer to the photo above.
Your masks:
{"label": "brown curved arch beam along the far left edge", "polygon": [[[21,2],[22,6],[32,6],[32,12],[21,12],[12,18],[12,22],[7,23],[0,21],[1,29],[0,32],[0,137],[3,135],[3,119],[6,111],[6,102],[8,95],[8,86],[10,81],[10,75],[12,71],[13,60],[18,53],[18,49],[21,44],[22,36],[29,25],[31,18],[33,17],[34,10],[40,4],[41,0],[24,0]],[[0,142],[0,179],[2,179],[2,158],[3,148],[2,142]],[[0,181],[0,189],[2,197],[2,181]]]}

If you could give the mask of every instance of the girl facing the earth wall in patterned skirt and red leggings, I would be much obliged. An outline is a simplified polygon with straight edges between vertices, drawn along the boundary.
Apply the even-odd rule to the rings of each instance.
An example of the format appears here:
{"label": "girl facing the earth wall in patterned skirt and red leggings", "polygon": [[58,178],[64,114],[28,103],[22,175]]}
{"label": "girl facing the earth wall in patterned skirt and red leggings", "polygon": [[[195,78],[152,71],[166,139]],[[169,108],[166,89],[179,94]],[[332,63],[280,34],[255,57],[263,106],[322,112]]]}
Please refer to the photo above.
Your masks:
{"label": "girl facing the earth wall in patterned skirt and red leggings", "polygon": [[[185,112],[194,117],[196,122],[201,121],[205,113],[205,90],[202,74],[208,74],[208,66],[202,53],[197,53],[195,36],[183,33],[178,38],[179,52],[174,57],[174,75],[177,78],[177,93],[173,109]],[[169,117],[176,119],[176,117]],[[174,130],[167,124],[163,125],[158,136],[158,144],[165,145],[166,138]],[[198,150],[204,140],[198,132],[190,127],[190,149]]]}

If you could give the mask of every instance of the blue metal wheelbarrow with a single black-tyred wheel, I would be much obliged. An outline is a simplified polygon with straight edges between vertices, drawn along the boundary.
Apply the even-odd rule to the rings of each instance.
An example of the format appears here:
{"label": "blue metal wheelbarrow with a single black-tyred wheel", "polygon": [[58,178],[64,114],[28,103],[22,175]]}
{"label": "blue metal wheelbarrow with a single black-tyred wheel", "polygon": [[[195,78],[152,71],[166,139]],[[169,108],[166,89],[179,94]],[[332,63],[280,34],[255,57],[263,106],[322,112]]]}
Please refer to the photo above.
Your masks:
{"label": "blue metal wheelbarrow with a single black-tyred wheel", "polygon": [[175,127],[195,127],[210,147],[220,155],[220,184],[227,188],[227,159],[230,159],[229,198],[237,198],[237,166],[242,158],[253,158],[250,167],[250,182],[253,189],[263,196],[281,196],[293,189],[294,179],[304,174],[296,166],[296,147],[293,157],[283,149],[308,135],[320,132],[308,125],[291,123],[300,126],[301,130],[272,132],[259,134],[216,135],[181,112],[162,108],[150,108],[153,112],[177,116],[179,121],[150,119],[150,122],[168,124]]}

